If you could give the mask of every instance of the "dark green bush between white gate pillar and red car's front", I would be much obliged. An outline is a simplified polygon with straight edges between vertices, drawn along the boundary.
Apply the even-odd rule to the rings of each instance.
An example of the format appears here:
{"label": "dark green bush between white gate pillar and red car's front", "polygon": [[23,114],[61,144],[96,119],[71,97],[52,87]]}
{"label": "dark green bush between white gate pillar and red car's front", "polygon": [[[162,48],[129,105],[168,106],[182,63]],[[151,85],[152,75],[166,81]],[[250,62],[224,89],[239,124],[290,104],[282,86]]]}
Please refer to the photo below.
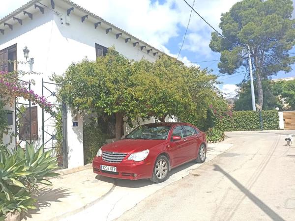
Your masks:
{"label": "dark green bush between white gate pillar and red car's front", "polygon": [[92,163],[98,149],[106,143],[107,135],[102,133],[95,118],[83,124],[84,164]]}

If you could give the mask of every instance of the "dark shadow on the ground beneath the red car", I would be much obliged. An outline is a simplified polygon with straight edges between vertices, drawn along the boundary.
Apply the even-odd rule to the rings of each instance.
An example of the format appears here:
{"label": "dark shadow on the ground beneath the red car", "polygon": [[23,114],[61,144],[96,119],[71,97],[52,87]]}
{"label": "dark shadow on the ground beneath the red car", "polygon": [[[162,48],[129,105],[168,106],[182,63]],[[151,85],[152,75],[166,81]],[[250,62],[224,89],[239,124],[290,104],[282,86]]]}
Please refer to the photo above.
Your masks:
{"label": "dark shadow on the ground beneath the red car", "polygon": [[[188,162],[186,164],[183,164],[181,166],[177,166],[176,168],[173,168],[169,172],[169,176],[172,176],[173,174],[175,174],[181,170],[184,170],[190,166],[193,166],[195,164],[196,163],[194,161],[192,161],[192,162]],[[115,183],[116,186],[118,186],[118,187],[127,187],[127,188],[141,188],[141,187],[146,187],[146,186],[155,184],[155,183],[151,182],[150,180],[123,180],[123,179],[108,178],[108,177],[104,177],[104,176],[100,176],[100,175],[96,175],[95,179],[101,180],[104,182],[108,182],[108,183]],[[168,179],[169,179],[169,177],[168,177]],[[115,180],[116,180],[116,182],[115,182]]]}

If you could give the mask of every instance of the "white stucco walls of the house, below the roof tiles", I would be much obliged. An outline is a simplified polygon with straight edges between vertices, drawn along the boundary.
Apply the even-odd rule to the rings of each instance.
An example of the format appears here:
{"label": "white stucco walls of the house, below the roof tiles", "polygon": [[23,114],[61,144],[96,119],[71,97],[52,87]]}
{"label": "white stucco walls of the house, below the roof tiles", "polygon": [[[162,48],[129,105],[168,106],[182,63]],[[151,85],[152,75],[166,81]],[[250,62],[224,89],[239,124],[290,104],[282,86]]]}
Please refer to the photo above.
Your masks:
{"label": "white stucco walls of the house, below the roof tiles", "polygon": [[[56,4],[55,10],[65,15],[67,8],[61,8]],[[64,19],[64,16],[62,17]],[[31,89],[41,95],[42,78],[49,82],[49,77],[56,73],[62,75],[66,68],[72,62],[79,62],[83,58],[88,57],[89,60],[95,59],[95,43],[104,47],[115,46],[116,50],[129,59],[140,60],[143,57],[150,61],[155,61],[155,57],[144,49],[140,50],[140,46],[133,47],[133,43],[125,38],[116,39],[116,31],[110,31],[106,34],[105,27],[98,26],[94,28],[93,18],[86,19],[81,22],[81,16],[70,14],[71,23],[69,26],[60,24],[60,16],[53,13],[50,9],[44,8],[44,14],[38,10],[33,14],[33,19],[28,17],[23,20],[23,25],[14,24],[13,30],[5,29],[5,34],[0,34],[0,50],[11,45],[17,44],[17,59],[25,61],[23,49],[25,46],[29,49],[29,58],[34,58],[33,64],[18,64],[19,71],[33,71],[40,74],[30,74],[22,76],[25,81],[34,80],[35,85],[31,85]],[[55,85],[48,85],[49,89],[55,91]],[[49,95],[45,90],[45,97]],[[55,98],[50,97],[50,102],[55,103]],[[15,110],[13,110],[15,111]],[[71,114],[70,112],[68,114]],[[47,119],[50,115],[45,114]],[[79,127],[72,127],[72,118],[68,117],[68,152],[69,167],[83,165],[83,127],[82,119],[79,118]],[[81,121],[81,122],[80,122]],[[48,120],[45,125],[53,122]],[[42,144],[42,109],[38,107],[38,140],[36,145]],[[14,127],[13,127],[14,128]],[[50,129],[49,129],[50,130]],[[51,131],[52,132],[52,131]],[[77,136],[77,133],[79,136]],[[82,137],[81,137],[82,134]],[[50,138],[46,135],[45,141]],[[51,143],[51,144],[50,144]],[[49,142],[47,145],[53,145]]]}

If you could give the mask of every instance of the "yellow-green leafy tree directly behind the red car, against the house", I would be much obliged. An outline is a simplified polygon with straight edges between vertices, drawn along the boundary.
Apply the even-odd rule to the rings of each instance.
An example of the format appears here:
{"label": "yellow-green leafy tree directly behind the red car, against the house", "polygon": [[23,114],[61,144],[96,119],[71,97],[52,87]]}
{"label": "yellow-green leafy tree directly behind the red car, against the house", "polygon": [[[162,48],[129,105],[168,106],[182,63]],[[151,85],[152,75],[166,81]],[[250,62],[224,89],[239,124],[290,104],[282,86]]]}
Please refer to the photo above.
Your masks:
{"label": "yellow-green leafy tree directly behind the red car, against the house", "polygon": [[123,118],[129,122],[151,116],[161,122],[167,115],[197,122],[207,117],[209,106],[225,105],[216,88],[216,76],[177,59],[161,56],[155,62],[128,60],[110,48],[96,61],[71,64],[63,77],[60,95],[78,111],[115,114],[116,139]]}

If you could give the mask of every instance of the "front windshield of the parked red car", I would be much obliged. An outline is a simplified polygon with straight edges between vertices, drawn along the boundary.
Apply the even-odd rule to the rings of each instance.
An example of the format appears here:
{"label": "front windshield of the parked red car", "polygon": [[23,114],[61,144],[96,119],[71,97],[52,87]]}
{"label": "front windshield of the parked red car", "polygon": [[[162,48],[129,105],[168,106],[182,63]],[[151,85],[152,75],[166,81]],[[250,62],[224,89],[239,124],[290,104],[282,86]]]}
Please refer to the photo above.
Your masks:
{"label": "front windshield of the parked red car", "polygon": [[140,126],[132,131],[127,139],[166,139],[169,126]]}

